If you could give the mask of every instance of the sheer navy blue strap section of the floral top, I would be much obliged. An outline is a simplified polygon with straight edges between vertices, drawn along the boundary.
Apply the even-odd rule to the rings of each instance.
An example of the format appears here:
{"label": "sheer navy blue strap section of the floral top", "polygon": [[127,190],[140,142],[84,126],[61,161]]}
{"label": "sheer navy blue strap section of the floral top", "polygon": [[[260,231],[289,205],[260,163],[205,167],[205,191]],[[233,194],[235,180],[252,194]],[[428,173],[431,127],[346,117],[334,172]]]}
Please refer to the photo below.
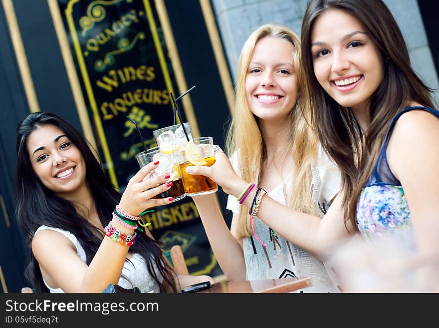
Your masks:
{"label": "sheer navy blue strap section of the floral top", "polygon": [[381,146],[380,154],[378,155],[378,160],[375,163],[374,170],[372,172],[371,177],[366,183],[366,187],[372,185],[394,185],[401,186],[401,182],[395,177],[392,173],[392,170],[389,167],[389,163],[387,162],[387,141],[392,133],[393,127],[395,126],[396,121],[408,111],[415,109],[423,109],[431,112],[433,115],[439,118],[439,111],[436,109],[432,109],[429,107],[415,106],[415,107],[406,107],[400,113],[398,113],[392,122],[390,123],[389,129],[387,130],[386,137],[384,139],[383,145]]}

